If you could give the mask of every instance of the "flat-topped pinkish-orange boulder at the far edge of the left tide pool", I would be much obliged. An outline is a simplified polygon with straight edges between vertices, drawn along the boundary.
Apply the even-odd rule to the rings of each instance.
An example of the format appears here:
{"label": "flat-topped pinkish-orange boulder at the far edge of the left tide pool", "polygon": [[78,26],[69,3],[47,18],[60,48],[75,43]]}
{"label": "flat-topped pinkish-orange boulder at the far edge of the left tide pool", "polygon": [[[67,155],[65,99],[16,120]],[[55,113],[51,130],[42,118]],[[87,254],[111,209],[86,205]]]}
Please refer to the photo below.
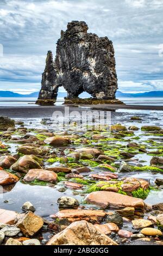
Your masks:
{"label": "flat-topped pinkish-orange boulder at the far edge of the left tide pool", "polygon": [[56,173],[51,170],[44,169],[30,169],[26,176],[24,176],[23,180],[27,182],[31,182],[34,180],[45,181],[49,183],[56,182],[58,176]]}

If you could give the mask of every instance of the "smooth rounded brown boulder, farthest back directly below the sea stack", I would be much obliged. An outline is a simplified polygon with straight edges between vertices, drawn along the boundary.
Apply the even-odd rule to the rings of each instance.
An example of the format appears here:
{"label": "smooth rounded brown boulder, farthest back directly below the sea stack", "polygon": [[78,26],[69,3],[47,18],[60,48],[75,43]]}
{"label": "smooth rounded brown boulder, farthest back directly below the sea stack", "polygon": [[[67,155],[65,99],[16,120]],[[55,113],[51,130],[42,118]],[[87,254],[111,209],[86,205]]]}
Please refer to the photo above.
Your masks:
{"label": "smooth rounded brown boulder, farthest back directly below the sea stack", "polygon": [[44,141],[46,144],[52,145],[53,147],[65,147],[68,144],[71,144],[71,140],[64,136],[53,136],[46,138]]}

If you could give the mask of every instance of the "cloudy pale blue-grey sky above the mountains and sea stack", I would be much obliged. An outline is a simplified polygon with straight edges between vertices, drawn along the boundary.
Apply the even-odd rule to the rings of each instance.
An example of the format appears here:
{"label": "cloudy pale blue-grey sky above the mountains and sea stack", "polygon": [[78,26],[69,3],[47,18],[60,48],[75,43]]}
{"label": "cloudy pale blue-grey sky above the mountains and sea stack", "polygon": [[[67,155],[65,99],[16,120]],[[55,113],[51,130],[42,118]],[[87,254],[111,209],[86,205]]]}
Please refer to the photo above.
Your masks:
{"label": "cloudy pale blue-grey sky above the mountains and sea stack", "polygon": [[55,56],[72,20],[112,40],[122,92],[163,90],[162,17],[163,0],[0,0],[0,90],[38,91],[47,51]]}

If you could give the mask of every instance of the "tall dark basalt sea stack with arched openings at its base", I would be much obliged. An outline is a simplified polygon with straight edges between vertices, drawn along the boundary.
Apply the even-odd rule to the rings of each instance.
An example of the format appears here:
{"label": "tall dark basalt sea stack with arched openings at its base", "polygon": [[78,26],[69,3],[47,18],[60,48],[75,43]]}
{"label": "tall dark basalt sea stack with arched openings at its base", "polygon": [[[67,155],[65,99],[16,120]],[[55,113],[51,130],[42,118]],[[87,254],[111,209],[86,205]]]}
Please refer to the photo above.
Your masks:
{"label": "tall dark basalt sea stack with arched openings at its base", "polygon": [[55,103],[61,86],[67,92],[69,103],[78,100],[82,92],[89,93],[93,100],[108,103],[115,100],[117,75],[112,41],[106,36],[99,38],[87,33],[87,30],[84,21],[72,21],[65,32],[61,31],[55,60],[51,51],[47,53],[36,103]]}

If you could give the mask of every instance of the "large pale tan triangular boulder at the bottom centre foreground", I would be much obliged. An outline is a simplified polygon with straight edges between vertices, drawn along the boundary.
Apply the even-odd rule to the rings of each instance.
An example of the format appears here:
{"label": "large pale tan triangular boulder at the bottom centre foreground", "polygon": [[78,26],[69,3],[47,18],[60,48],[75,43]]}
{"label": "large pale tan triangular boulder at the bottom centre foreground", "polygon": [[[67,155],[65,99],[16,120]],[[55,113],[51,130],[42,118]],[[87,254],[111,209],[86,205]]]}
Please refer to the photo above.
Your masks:
{"label": "large pale tan triangular boulder at the bottom centre foreground", "polygon": [[54,235],[47,245],[117,245],[95,225],[86,221],[76,221]]}

